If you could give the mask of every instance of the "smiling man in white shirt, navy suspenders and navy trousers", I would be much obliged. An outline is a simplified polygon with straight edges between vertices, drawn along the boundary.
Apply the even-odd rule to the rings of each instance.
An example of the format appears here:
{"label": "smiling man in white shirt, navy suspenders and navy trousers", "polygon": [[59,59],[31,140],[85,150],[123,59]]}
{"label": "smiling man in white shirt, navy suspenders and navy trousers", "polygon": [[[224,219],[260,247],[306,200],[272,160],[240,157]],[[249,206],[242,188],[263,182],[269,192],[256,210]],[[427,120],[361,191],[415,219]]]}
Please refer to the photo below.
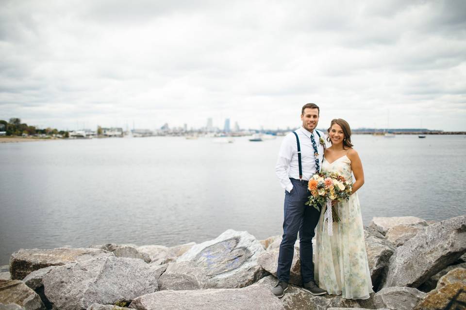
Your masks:
{"label": "smiling man in white shirt, navy suspenders and navy trousers", "polygon": [[315,208],[304,204],[310,195],[308,181],[314,173],[320,171],[324,155],[324,146],[320,143],[324,134],[316,130],[319,112],[319,107],[314,103],[302,107],[302,126],[283,139],[275,167],[280,184],[285,189],[283,239],[277,267],[279,282],[272,289],[277,297],[282,297],[288,289],[298,232],[303,289],[314,295],[327,293],[316,285],[312,263],[312,238],[320,214]]}

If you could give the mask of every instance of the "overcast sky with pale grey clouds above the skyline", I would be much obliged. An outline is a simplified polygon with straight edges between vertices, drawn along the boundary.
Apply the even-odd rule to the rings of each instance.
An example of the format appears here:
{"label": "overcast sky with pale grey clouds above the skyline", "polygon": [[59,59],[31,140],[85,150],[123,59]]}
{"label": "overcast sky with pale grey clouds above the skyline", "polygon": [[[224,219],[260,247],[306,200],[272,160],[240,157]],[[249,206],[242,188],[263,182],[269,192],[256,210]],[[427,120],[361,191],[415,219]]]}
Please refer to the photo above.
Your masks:
{"label": "overcast sky with pale grey clouds above the skyline", "polygon": [[466,1],[0,0],[0,119],[285,128],[308,102],[466,130]]}

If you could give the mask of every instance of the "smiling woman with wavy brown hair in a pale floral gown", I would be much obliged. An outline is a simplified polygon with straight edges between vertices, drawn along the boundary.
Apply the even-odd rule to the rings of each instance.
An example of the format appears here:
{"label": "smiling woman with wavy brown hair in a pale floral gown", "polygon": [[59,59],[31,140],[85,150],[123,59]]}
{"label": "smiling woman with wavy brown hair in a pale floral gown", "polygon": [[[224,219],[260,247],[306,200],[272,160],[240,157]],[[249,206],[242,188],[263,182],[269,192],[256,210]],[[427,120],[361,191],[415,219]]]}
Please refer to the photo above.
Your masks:
{"label": "smiling woman with wavy brown hair in a pale floral gown", "polygon": [[[364,172],[358,153],[352,148],[350,125],[334,119],[328,129],[327,140],[332,146],[324,153],[322,171],[337,172],[355,182],[349,201],[332,202],[340,217],[333,223],[333,235],[327,231],[321,210],[316,233],[315,277],[320,288],[329,294],[341,294],[348,299],[367,299],[372,293],[363,221],[356,191],[364,184]],[[325,207],[324,207],[325,208]]]}

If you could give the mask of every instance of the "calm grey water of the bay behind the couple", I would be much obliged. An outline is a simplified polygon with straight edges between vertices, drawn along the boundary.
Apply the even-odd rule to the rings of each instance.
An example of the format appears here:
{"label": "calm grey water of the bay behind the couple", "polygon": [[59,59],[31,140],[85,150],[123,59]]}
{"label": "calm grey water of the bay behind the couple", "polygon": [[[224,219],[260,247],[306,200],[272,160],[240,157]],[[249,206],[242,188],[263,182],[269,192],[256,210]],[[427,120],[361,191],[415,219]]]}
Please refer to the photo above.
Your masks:
{"label": "calm grey water of the bay behind the couple", "polygon": [[[0,264],[19,248],[202,242],[282,233],[282,138],[153,137],[0,144]],[[354,136],[363,220],[466,214],[466,136]]]}

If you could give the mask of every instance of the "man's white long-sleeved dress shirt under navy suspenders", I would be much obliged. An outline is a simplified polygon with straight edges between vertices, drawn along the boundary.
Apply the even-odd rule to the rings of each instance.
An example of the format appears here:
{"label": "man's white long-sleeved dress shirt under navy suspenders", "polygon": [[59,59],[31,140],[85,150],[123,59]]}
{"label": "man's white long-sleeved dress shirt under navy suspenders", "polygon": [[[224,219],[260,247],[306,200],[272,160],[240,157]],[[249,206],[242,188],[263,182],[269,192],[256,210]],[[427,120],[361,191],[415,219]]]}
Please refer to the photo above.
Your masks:
{"label": "man's white long-sleeved dress shirt under navy suspenders", "polygon": [[[320,167],[322,167],[322,160],[324,158],[324,147],[319,142],[316,129],[311,133],[301,126],[295,132],[298,134],[298,138],[300,138],[302,179],[308,181],[316,173],[316,157],[314,156],[311,135],[314,135],[314,139],[316,140]],[[321,131],[319,131],[319,134],[320,137],[325,139]],[[280,180],[280,185],[288,192],[291,192],[293,188],[290,178],[300,179],[298,145],[296,144],[296,136],[293,133],[289,133],[283,138],[282,146],[278,153],[277,165],[275,166],[275,173]]]}

